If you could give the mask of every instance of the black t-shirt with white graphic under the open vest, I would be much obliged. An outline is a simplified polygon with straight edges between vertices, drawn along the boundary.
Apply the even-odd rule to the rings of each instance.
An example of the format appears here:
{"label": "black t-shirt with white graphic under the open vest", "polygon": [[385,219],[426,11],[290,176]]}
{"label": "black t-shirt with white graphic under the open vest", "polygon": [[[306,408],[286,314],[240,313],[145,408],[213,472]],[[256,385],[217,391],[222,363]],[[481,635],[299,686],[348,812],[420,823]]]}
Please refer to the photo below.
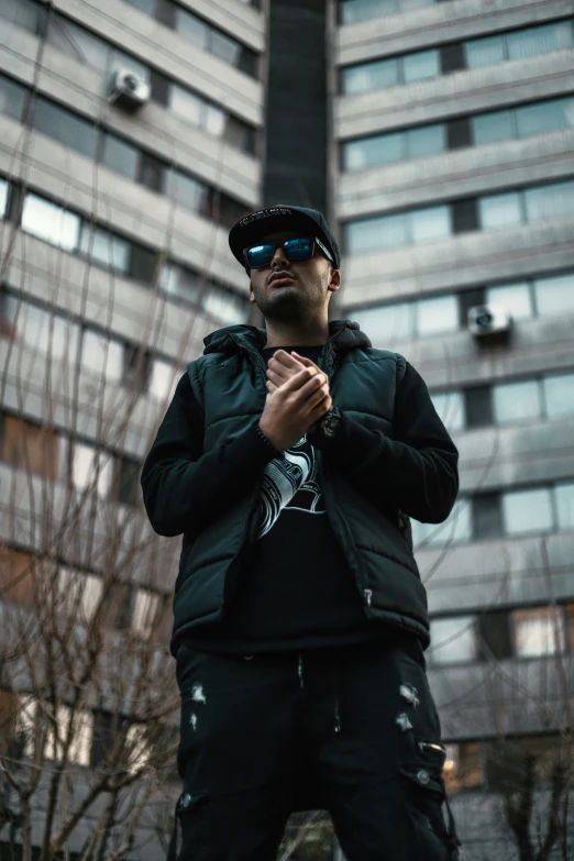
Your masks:
{"label": "black t-shirt with white graphic under the open vest", "polygon": [[[317,362],[321,349],[297,352]],[[274,352],[262,354],[268,361]],[[257,539],[217,642],[202,645],[251,654],[380,639],[380,628],[364,616],[325,514],[316,451],[303,437],[265,467]]]}

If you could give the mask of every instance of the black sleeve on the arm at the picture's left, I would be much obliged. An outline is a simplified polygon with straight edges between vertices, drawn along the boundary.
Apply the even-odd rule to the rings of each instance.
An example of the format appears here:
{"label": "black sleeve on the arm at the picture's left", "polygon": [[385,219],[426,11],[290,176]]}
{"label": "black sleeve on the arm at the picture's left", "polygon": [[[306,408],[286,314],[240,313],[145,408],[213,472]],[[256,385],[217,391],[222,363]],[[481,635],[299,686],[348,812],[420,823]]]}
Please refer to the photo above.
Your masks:
{"label": "black sleeve on the arm at the picture's left", "polygon": [[203,410],[185,374],[142,471],[147,517],[161,536],[201,529],[242,499],[278,456],[254,421],[203,453]]}

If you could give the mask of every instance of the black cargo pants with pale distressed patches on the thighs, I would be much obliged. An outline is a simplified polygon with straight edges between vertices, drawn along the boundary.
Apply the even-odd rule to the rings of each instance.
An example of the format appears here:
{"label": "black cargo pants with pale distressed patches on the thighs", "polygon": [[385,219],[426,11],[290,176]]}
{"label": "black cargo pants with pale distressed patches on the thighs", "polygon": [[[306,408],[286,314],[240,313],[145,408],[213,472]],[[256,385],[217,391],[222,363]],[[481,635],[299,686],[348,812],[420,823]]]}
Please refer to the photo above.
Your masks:
{"label": "black cargo pants with pale distressed patches on the thighs", "polygon": [[273,861],[299,809],[330,812],[347,861],[461,858],[415,638],[251,656],[183,645],[177,681],[178,861]]}

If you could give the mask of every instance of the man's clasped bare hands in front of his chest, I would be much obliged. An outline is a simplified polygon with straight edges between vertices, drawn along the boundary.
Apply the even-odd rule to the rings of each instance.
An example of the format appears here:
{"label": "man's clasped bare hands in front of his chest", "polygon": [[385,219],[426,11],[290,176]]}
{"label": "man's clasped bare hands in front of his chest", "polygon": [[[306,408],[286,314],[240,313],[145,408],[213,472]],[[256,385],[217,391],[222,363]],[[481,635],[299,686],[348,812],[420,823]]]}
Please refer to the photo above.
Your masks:
{"label": "man's clasped bare hands in front of his chest", "polygon": [[267,366],[266,387],[260,428],[279,451],[295,445],[333,407],[327,374],[295,352],[277,350]]}

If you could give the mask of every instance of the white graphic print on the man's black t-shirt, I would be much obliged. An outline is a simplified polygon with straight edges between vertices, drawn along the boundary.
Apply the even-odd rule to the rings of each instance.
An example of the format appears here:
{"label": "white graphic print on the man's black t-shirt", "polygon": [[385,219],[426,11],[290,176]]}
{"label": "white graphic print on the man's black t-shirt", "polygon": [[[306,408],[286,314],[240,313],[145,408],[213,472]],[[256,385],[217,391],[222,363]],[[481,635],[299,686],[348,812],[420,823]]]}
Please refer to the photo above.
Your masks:
{"label": "white graphic print on the man's black t-shirt", "polygon": [[292,449],[284,452],[283,457],[276,457],[265,467],[256,538],[267,534],[284,508],[309,515],[325,512],[323,495],[317,481],[314,449],[307,442],[307,437],[301,437]]}

